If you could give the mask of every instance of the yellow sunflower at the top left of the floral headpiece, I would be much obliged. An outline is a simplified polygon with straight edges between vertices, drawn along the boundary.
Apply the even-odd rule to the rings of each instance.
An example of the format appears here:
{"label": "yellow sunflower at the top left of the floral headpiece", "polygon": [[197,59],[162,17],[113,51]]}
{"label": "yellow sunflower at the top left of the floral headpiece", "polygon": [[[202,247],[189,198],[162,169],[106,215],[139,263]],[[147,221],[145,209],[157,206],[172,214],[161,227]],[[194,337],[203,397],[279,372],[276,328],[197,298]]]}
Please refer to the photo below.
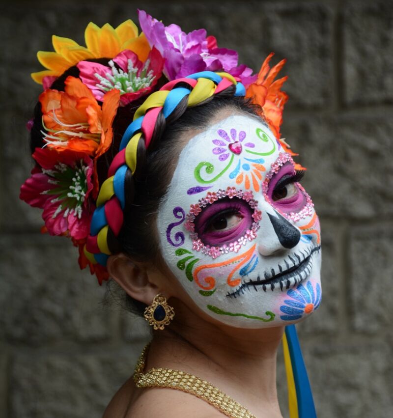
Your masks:
{"label": "yellow sunflower at the top left of the floral headpiece", "polygon": [[84,31],[86,47],[69,38],[52,36],[55,52],[38,51],[38,61],[47,68],[44,71],[31,73],[31,78],[38,84],[46,76],[58,77],[76,65],[79,61],[92,58],[113,58],[121,51],[131,50],[144,62],[150,46],[143,33],[138,35],[138,27],[128,19],[117,28],[106,23],[102,28],[90,22]]}

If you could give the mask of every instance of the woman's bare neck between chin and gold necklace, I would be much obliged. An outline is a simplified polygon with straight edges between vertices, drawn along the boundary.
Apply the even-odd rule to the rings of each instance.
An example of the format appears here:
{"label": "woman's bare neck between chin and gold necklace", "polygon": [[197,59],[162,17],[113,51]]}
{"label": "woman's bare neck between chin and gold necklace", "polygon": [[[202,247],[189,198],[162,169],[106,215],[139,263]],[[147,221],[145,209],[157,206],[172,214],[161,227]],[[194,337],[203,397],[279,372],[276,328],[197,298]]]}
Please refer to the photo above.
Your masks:
{"label": "woman's bare neck between chin and gold necklace", "polygon": [[281,417],[276,356],[284,328],[233,328],[201,318],[200,312],[196,315],[182,304],[174,308],[175,320],[154,335],[153,359],[150,362],[149,355],[148,365],[195,374],[244,406],[253,406],[254,412],[266,411],[269,406],[267,416]]}

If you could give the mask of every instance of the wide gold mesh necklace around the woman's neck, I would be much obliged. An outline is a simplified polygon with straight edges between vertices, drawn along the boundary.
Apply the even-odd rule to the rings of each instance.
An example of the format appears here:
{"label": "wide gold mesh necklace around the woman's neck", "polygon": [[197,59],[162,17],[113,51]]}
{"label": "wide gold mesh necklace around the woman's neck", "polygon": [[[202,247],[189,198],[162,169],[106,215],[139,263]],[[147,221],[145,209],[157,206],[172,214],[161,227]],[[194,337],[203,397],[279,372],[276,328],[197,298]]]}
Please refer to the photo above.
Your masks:
{"label": "wide gold mesh necklace around the woman's neck", "polygon": [[143,373],[146,353],[149,344],[143,349],[135,366],[134,381],[137,388],[169,388],[191,393],[210,405],[219,409],[227,417],[231,418],[256,418],[248,409],[233,400],[220,389],[206,380],[199,379],[193,374],[184,371],[166,368],[152,368]]}

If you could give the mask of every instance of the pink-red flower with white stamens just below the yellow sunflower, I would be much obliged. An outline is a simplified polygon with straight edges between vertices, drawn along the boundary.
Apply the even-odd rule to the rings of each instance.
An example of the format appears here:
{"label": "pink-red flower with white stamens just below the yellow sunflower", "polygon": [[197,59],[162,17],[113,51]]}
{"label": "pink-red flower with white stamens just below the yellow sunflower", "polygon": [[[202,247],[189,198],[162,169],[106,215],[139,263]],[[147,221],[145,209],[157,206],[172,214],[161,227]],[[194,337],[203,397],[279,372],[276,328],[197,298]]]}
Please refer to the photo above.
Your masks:
{"label": "pink-red flower with white stamens just below the yellow sunflower", "polygon": [[109,67],[98,62],[80,61],[79,77],[94,97],[103,101],[104,94],[114,88],[120,90],[120,103],[128,103],[148,94],[161,78],[164,58],[153,48],[143,63],[137,54],[124,50],[109,61]]}

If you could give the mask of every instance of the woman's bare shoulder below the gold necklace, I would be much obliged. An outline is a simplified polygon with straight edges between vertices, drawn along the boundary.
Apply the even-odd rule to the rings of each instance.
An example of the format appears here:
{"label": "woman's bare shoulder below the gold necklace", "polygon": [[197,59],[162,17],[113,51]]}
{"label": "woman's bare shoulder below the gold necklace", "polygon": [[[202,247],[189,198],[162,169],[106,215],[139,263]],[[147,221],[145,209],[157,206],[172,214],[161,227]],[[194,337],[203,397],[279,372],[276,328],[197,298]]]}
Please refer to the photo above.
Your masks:
{"label": "woman's bare shoulder below the gold necklace", "polygon": [[[220,411],[195,395],[166,388],[145,389],[124,418],[223,418]],[[109,418],[109,416],[108,416]]]}

